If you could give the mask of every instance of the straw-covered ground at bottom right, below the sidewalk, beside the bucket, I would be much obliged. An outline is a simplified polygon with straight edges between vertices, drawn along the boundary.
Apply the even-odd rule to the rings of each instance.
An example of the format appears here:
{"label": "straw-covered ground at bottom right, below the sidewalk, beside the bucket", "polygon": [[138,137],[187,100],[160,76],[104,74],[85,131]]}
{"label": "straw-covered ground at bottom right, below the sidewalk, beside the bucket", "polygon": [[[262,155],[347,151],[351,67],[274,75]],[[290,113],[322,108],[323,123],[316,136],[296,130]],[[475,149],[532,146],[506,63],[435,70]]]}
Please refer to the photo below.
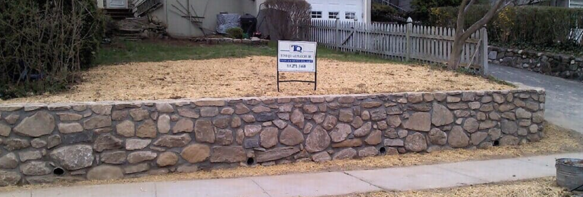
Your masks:
{"label": "straw-covered ground at bottom right, below the sidewalk, beside the bucket", "polygon": [[[498,197],[564,197],[571,196],[571,192],[557,185],[554,177],[538,178],[526,181],[500,182],[496,184],[472,185],[447,189],[430,189],[425,191],[408,192],[372,192],[367,194],[353,194],[342,197],[470,197],[470,196],[498,196]],[[340,196],[336,196],[340,197]]]}

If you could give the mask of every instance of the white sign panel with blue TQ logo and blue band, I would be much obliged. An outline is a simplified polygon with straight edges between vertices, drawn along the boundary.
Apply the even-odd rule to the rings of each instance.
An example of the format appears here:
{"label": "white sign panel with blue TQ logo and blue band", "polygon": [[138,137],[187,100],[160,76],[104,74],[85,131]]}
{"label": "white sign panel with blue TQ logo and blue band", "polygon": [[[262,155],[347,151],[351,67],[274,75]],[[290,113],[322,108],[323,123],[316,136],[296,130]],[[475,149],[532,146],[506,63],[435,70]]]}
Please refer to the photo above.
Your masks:
{"label": "white sign panel with blue TQ logo and blue band", "polygon": [[278,71],[316,71],[316,42],[279,41]]}

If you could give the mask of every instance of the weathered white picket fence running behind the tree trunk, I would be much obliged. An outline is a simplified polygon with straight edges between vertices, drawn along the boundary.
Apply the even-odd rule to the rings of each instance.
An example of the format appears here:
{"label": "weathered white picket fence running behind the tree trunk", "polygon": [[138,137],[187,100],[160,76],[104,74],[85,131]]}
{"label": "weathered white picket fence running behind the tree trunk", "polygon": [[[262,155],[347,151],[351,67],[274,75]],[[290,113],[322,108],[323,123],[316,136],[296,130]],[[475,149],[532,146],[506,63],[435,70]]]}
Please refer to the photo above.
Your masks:
{"label": "weathered white picket fence running behind the tree trunk", "polygon": [[[312,19],[304,26],[305,41],[345,52],[361,52],[387,59],[445,63],[454,43],[455,29],[409,24],[382,24]],[[466,41],[461,65],[487,70],[486,28]]]}

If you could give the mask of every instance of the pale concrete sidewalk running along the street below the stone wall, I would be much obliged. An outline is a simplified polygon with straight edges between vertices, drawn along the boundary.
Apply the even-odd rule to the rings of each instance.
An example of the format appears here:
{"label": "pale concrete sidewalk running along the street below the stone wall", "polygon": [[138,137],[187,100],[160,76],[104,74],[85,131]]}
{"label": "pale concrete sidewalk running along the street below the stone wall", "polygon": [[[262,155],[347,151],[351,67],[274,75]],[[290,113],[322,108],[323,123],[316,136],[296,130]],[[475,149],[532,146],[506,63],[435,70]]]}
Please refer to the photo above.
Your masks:
{"label": "pale concrete sidewalk running along the street below the stone wall", "polygon": [[561,157],[581,158],[583,153],[378,170],[48,188],[17,191],[0,196],[292,197],[345,195],[381,190],[407,191],[550,177],[555,175],[554,160]]}

